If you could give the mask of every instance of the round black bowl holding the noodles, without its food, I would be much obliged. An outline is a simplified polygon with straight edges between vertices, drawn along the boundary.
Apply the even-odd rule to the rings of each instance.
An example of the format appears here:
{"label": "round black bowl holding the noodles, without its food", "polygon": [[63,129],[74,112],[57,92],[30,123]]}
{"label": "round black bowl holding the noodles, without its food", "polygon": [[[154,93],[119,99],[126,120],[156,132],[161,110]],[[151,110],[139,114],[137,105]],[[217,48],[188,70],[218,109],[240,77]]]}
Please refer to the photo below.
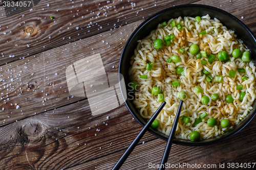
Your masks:
{"label": "round black bowl holding the noodles, without its food", "polygon": [[[233,30],[235,34],[237,34],[238,38],[240,38],[246,44],[246,46],[250,49],[253,60],[254,60],[254,64],[255,64],[256,39],[252,34],[252,32],[237,17],[221,9],[211,7],[211,6],[206,6],[206,5],[191,4],[191,5],[175,6],[175,7],[164,9],[152,15],[151,17],[147,18],[144,22],[141,23],[141,25],[139,25],[139,27],[132,33],[130,38],[127,40],[123,48],[123,52],[122,52],[120,63],[119,63],[119,73],[124,77],[126,89],[129,89],[127,86],[127,84],[130,82],[128,70],[131,66],[130,60],[134,54],[134,49],[136,48],[137,40],[143,39],[144,37],[149,35],[152,30],[155,30],[157,28],[158,23],[168,21],[171,18],[177,18],[179,16],[196,17],[196,16],[203,16],[206,14],[209,14],[209,16],[212,19],[215,17],[218,18],[223,23],[224,26],[226,26],[230,30]],[[122,87],[121,87],[121,90],[122,90],[122,95],[124,93],[127,94],[128,92]],[[127,96],[128,98],[125,101],[127,108],[130,110],[130,112],[135,117],[135,119],[139,122],[139,124],[144,127],[144,125],[146,124],[146,120],[140,116],[133,102],[129,100],[129,95]],[[245,127],[250,122],[250,120],[253,118],[256,112],[255,101],[252,107],[253,109],[247,114],[247,116],[240,123],[237,124],[237,126],[234,126],[231,130],[227,131],[226,133],[220,136],[206,139],[206,140],[200,140],[200,141],[189,141],[189,140],[182,140],[182,139],[175,138],[173,142],[181,145],[206,145],[206,144],[212,144],[212,143],[225,140],[230,136],[238,133],[243,127]],[[158,132],[157,130],[150,129],[149,131],[163,140],[167,141],[168,139],[168,136],[164,135],[161,132]]]}

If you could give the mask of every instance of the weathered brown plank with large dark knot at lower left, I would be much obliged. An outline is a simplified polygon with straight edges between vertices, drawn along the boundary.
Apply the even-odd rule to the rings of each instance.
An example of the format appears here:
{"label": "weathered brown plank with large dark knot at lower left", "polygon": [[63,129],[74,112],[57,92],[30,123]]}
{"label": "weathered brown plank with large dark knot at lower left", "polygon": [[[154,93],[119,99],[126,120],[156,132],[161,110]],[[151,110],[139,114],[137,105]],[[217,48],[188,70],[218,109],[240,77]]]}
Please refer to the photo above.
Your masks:
{"label": "weathered brown plank with large dark knot at lower left", "polygon": [[0,168],[64,169],[125,148],[141,129],[124,106],[99,116],[87,100],[71,106],[2,127]]}

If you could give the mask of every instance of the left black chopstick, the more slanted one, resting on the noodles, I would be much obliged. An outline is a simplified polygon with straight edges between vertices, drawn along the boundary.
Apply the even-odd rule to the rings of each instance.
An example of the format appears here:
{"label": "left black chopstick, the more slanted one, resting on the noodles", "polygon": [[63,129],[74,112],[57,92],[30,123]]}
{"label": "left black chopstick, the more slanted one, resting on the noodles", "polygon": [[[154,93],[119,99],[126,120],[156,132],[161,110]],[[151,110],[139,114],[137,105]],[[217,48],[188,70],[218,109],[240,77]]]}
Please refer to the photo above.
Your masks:
{"label": "left black chopstick, the more slanted one, resting on the noodles", "polygon": [[154,115],[148,120],[144,128],[140,131],[140,133],[137,135],[137,137],[133,140],[133,142],[130,144],[130,146],[127,148],[127,150],[124,152],[122,157],[118,160],[118,162],[115,164],[115,166],[112,168],[112,170],[118,170],[124,161],[127,159],[127,157],[132,153],[133,149],[136,147],[142,136],[146,133],[147,129],[150,128],[151,124],[154,122],[160,111],[163,109],[166,102],[163,102],[161,106],[157,109],[157,111],[154,113]]}

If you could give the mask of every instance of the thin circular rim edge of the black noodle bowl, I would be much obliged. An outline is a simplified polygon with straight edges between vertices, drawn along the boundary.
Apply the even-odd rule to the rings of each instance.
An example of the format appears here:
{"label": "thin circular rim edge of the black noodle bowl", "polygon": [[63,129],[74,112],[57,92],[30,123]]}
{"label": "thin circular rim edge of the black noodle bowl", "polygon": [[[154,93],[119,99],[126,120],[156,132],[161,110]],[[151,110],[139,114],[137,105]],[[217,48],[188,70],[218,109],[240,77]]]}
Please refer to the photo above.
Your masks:
{"label": "thin circular rim edge of the black noodle bowl", "polygon": [[[118,72],[119,74],[121,74],[121,67],[122,67],[122,61],[123,61],[123,55],[124,55],[124,52],[126,51],[126,48],[127,46],[130,44],[131,40],[134,38],[135,34],[139,31],[139,29],[141,29],[141,27],[143,27],[148,21],[150,21],[151,19],[153,19],[154,17],[164,13],[164,12],[167,12],[167,11],[171,11],[171,10],[175,10],[175,9],[180,9],[180,8],[193,8],[193,7],[197,7],[197,8],[205,8],[205,9],[211,9],[211,10],[216,10],[218,12],[221,12],[231,18],[233,18],[234,20],[236,20],[240,25],[242,25],[246,31],[253,37],[254,41],[256,42],[256,38],[254,36],[254,34],[251,32],[251,30],[240,20],[238,19],[236,16],[233,16],[232,14],[222,10],[222,9],[219,9],[219,8],[216,8],[216,7],[212,7],[212,6],[208,6],[208,5],[201,5],[201,4],[185,4],[185,5],[178,5],[178,6],[173,6],[173,7],[169,7],[169,8],[166,8],[164,10],[161,10],[153,15],[151,15],[150,17],[148,17],[146,20],[144,20],[134,31],[133,33],[131,34],[131,36],[129,37],[129,39],[126,41],[125,45],[124,45],[124,48],[123,48],[123,51],[121,53],[121,57],[120,57],[120,61],[119,61],[119,67],[118,67]],[[255,62],[254,62],[254,65],[255,65]],[[121,87],[121,84],[120,84],[120,80],[122,78],[119,77],[119,85]],[[122,89],[120,90],[121,91],[121,94],[122,94],[122,97],[123,99],[124,98],[124,94],[123,94],[123,91]],[[126,92],[126,90],[125,90]],[[130,113],[133,115],[133,117],[136,119],[136,121],[142,126],[144,127],[145,125],[140,121],[140,119],[137,117],[137,115],[135,113],[133,113],[132,109],[130,108],[129,104],[127,103],[126,100],[124,100],[124,103],[127,107],[127,109],[130,111]],[[234,132],[230,133],[230,134],[227,134],[226,136],[224,137],[221,137],[221,138],[216,138],[216,140],[212,140],[212,141],[207,141],[207,142],[197,142],[197,143],[194,143],[194,142],[182,142],[182,141],[177,141],[177,140],[173,140],[173,143],[175,144],[180,144],[180,145],[187,145],[187,146],[201,146],[201,145],[208,145],[208,144],[214,144],[214,143],[217,143],[217,142],[220,142],[220,141],[223,141],[235,134],[237,134],[240,130],[242,130],[249,122],[250,120],[254,117],[256,113],[256,110],[254,110],[254,113],[252,113],[250,115],[250,117],[248,119],[245,120],[244,124],[242,126],[240,126],[237,130],[235,130]],[[160,139],[163,139],[165,141],[168,140],[168,138],[156,133],[154,130],[152,129],[148,129],[148,131],[150,133],[152,133],[153,135],[157,136],[158,138]],[[160,132],[161,133],[161,132]],[[218,136],[217,136],[218,137]]]}

